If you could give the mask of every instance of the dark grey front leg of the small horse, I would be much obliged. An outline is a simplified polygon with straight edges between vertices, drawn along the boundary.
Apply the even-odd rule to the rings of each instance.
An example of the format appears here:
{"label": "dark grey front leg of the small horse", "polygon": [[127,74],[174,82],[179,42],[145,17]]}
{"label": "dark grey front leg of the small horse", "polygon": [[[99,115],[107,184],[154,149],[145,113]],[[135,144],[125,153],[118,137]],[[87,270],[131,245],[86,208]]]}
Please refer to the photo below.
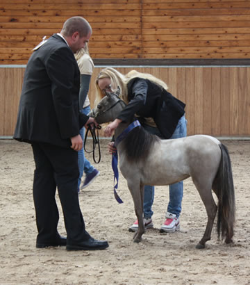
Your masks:
{"label": "dark grey front leg of the small horse", "polygon": [[143,222],[143,200],[144,200],[144,185],[135,183],[129,183],[128,188],[133,197],[135,215],[138,218],[138,231],[135,232],[133,240],[135,243],[142,241],[142,234],[144,234],[144,222]]}

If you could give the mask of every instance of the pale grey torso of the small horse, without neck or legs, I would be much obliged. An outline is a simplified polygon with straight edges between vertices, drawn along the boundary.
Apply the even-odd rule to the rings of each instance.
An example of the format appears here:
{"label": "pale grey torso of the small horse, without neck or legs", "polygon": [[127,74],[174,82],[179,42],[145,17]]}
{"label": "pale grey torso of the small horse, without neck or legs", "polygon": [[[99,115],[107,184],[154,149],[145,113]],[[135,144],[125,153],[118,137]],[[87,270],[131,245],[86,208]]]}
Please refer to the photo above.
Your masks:
{"label": "pale grey torso of the small horse, without neck or legs", "polygon": [[134,163],[121,153],[120,169],[126,179],[138,179],[146,185],[173,184],[200,174],[215,177],[221,156],[219,143],[203,135],[160,140],[147,157]]}

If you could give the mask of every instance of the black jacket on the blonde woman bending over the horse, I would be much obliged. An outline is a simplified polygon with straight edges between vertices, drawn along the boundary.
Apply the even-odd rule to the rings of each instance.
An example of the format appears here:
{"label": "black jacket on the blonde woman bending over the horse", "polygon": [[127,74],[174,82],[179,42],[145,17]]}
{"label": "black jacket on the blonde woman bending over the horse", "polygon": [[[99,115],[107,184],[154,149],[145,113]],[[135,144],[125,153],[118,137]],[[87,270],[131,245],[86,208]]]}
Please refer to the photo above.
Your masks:
{"label": "black jacket on the blonde woman bending over the horse", "polygon": [[185,104],[148,79],[134,78],[128,81],[128,105],[118,119],[133,120],[140,117],[153,117],[164,138],[171,138],[178,120],[185,114]]}

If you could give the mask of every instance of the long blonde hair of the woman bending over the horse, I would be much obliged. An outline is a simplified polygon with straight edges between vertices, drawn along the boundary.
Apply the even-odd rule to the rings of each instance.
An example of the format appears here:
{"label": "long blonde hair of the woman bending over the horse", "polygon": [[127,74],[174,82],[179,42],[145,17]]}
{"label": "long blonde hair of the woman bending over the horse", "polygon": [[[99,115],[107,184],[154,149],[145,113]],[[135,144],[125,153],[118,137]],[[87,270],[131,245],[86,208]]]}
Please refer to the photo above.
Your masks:
{"label": "long blonde hair of the woman bending over the horse", "polygon": [[94,106],[97,106],[99,101],[104,97],[102,90],[99,88],[98,82],[99,79],[103,78],[110,78],[111,81],[111,90],[115,91],[118,87],[120,89],[120,95],[121,99],[125,101],[126,104],[128,104],[128,87],[127,84],[131,79],[134,79],[135,77],[143,78],[143,79],[149,79],[153,83],[156,83],[160,88],[164,88],[167,90],[167,84],[153,76],[149,73],[142,73],[138,72],[136,70],[131,70],[131,72],[128,72],[126,75],[122,74],[121,72],[118,72],[113,67],[106,67],[98,74],[97,79],[95,81],[95,85],[97,88],[97,96],[94,101]]}

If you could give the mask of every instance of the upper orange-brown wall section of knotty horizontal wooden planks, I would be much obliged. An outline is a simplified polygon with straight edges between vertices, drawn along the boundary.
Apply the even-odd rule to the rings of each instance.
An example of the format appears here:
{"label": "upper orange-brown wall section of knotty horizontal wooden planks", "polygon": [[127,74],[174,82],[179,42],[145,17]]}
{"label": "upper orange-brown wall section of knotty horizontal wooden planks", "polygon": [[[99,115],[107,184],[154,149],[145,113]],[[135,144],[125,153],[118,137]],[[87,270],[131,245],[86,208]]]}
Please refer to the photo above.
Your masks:
{"label": "upper orange-brown wall section of knotty horizontal wooden planks", "polygon": [[81,15],[93,58],[250,58],[249,0],[1,0],[0,63]]}

